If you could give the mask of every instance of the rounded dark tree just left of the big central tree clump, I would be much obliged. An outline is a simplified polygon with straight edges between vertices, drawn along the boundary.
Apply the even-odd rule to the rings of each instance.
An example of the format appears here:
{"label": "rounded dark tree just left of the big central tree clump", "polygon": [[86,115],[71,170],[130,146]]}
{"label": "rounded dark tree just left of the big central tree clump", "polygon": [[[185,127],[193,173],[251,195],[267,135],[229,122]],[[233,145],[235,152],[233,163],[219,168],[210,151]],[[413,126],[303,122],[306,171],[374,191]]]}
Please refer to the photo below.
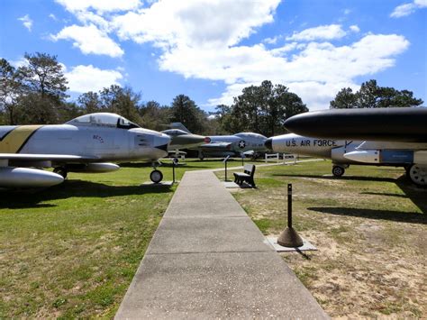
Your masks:
{"label": "rounded dark tree just left of the big central tree clump", "polygon": [[192,133],[202,133],[202,119],[205,117],[206,114],[188,96],[178,95],[174,98],[170,108],[171,122],[183,123]]}

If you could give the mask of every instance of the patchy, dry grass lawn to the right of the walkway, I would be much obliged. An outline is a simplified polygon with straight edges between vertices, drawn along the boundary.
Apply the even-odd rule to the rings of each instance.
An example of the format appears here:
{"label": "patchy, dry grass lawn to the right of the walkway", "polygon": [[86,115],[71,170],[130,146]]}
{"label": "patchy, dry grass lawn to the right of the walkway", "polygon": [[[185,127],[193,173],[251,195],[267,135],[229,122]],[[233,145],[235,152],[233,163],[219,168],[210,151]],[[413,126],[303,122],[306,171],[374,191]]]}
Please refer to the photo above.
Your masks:
{"label": "patchy, dry grass lawn to the right of the walkway", "polygon": [[352,166],[342,178],[331,169],[324,160],[257,168],[258,188],[233,196],[278,235],[293,184],[294,227],[319,251],[282,256],[332,317],[425,318],[427,189],[403,169]]}

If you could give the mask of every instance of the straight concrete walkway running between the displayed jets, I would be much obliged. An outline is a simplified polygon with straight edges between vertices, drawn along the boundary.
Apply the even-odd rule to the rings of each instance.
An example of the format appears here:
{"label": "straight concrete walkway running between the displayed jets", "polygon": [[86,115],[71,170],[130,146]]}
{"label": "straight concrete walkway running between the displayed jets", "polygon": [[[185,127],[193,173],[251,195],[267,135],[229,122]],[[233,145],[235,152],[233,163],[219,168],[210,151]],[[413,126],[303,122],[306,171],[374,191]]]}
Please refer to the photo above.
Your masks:
{"label": "straight concrete walkway running between the displayed jets", "polygon": [[212,171],[186,172],[116,319],[328,318]]}

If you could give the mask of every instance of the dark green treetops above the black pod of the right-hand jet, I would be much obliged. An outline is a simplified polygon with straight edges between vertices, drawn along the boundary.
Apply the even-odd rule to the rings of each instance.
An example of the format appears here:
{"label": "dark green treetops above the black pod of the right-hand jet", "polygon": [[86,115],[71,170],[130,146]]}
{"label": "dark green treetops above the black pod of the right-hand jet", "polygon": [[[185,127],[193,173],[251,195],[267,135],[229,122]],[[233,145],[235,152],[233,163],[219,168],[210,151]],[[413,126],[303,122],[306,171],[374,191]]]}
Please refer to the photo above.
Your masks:
{"label": "dark green treetops above the black pod of the right-hand jet", "polygon": [[422,99],[413,97],[413,92],[396,90],[393,87],[379,87],[376,80],[362,83],[355,94],[350,87],[342,88],[331,101],[331,108],[386,108],[422,105]]}

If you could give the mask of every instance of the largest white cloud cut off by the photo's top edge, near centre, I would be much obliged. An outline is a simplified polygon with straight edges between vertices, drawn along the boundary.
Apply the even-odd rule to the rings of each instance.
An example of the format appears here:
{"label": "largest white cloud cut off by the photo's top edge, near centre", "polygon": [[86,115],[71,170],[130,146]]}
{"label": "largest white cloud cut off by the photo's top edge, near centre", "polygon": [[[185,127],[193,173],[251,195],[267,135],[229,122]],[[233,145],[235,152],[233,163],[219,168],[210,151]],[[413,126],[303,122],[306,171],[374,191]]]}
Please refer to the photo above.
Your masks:
{"label": "largest white cloud cut off by the photo's top edge, near centre", "polygon": [[123,40],[157,46],[232,46],[273,21],[279,0],[163,0],[114,18]]}

